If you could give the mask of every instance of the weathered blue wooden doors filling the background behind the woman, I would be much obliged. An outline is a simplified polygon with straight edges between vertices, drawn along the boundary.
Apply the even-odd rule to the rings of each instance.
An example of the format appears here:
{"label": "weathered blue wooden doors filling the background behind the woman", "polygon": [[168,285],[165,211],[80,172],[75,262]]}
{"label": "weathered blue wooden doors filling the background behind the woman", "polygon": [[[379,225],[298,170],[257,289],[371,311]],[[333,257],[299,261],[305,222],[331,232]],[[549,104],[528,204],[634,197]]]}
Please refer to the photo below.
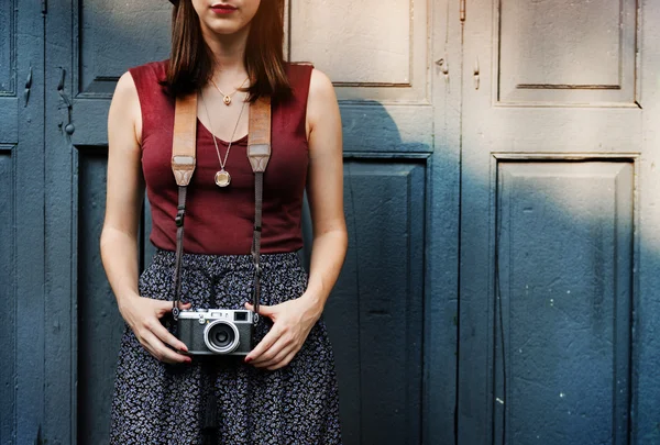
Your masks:
{"label": "weathered blue wooden doors filling the background behind the woman", "polygon": [[[660,8],[527,3],[288,3],[289,57],[344,124],[345,444],[660,443]],[[2,444],[107,442],[107,111],[169,13],[0,7]]]}

